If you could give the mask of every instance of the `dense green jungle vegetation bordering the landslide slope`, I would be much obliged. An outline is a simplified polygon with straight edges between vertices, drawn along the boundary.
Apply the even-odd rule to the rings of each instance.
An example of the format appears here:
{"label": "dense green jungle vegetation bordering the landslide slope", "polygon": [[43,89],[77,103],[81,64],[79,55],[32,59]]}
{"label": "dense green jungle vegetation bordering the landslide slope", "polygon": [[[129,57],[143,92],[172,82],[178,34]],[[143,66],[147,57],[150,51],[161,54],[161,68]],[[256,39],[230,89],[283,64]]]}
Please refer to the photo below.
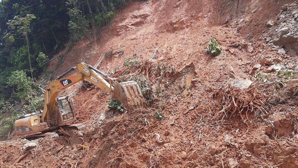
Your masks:
{"label": "dense green jungle vegetation bordering the landslide slope", "polygon": [[[26,109],[43,103],[41,73],[61,49],[98,40],[100,28],[127,0],[2,0],[0,2],[0,139]],[[63,59],[61,59],[63,61]],[[34,111],[34,110],[33,110]]]}

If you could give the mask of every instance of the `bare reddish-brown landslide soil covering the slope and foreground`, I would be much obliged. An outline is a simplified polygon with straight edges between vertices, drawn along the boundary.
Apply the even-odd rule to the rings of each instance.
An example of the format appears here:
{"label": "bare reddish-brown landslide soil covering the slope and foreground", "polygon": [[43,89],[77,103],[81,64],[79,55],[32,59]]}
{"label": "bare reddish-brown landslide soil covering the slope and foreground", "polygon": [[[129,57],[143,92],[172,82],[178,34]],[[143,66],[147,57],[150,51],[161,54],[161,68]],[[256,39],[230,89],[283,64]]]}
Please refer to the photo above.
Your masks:
{"label": "bare reddish-brown landslide soil covering the slope and foreground", "polygon": [[[263,109],[246,113],[223,113],[224,100],[217,99],[230,83],[260,82],[253,77],[253,66],[260,63],[261,55],[297,65],[296,50],[285,49],[280,54],[277,49],[281,48],[274,48],[264,35],[274,32],[276,25],[266,23],[276,22],[283,5],[298,2],[148,2],[130,2],[102,30],[100,41],[78,42],[66,52],[63,63],[54,59],[48,69],[60,75],[76,62],[88,61],[92,66],[100,62],[99,70],[117,77],[135,72],[127,72],[124,58],[165,62],[177,73],[160,77],[140,72],[151,81],[154,101],[146,109],[122,114],[108,109],[110,96],[100,88],[76,84],[60,96],[74,93],[77,123],[85,123],[86,129],[68,130],[70,137],[31,140],[38,146],[19,163],[18,158],[26,153],[21,150],[28,143],[22,139],[25,136],[2,141],[0,167],[298,167],[298,101],[293,92],[281,89],[273,94],[268,88],[255,88],[252,99],[260,104],[266,98],[266,102],[262,102]],[[223,49],[216,57],[205,53],[210,37]],[[122,55],[102,56],[122,48]],[[257,70],[268,68],[263,65]],[[246,106],[256,107],[248,104],[243,109]],[[154,117],[155,112],[163,113],[165,119]]]}

